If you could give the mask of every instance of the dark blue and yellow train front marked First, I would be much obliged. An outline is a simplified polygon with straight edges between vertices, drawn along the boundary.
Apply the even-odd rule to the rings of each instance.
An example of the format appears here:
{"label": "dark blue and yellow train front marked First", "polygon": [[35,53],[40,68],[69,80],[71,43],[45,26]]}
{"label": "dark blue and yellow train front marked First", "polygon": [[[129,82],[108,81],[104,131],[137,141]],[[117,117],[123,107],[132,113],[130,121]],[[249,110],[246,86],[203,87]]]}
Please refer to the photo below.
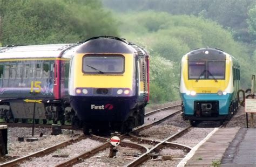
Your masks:
{"label": "dark blue and yellow train front marked First", "polygon": [[88,39],[71,60],[69,94],[85,134],[140,126],[149,100],[149,55],[117,37]]}

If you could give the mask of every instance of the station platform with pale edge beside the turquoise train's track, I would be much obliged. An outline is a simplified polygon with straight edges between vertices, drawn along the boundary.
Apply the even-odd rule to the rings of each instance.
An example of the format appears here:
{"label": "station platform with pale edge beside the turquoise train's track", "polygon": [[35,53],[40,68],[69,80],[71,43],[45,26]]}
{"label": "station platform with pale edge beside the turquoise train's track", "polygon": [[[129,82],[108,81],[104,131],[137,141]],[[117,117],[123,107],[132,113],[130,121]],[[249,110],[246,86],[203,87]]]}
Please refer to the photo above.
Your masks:
{"label": "station platform with pale edge beside the turquoise train's track", "polygon": [[255,128],[215,128],[178,166],[256,166]]}

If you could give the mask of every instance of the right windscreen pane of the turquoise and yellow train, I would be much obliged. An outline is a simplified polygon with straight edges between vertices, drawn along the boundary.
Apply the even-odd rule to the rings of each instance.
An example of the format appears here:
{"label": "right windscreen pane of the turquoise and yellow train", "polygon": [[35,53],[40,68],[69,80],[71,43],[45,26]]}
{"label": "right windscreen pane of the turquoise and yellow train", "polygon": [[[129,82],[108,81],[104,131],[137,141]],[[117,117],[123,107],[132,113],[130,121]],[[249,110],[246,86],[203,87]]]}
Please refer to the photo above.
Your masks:
{"label": "right windscreen pane of the turquoise and yellow train", "polygon": [[208,79],[225,79],[225,61],[208,61]]}

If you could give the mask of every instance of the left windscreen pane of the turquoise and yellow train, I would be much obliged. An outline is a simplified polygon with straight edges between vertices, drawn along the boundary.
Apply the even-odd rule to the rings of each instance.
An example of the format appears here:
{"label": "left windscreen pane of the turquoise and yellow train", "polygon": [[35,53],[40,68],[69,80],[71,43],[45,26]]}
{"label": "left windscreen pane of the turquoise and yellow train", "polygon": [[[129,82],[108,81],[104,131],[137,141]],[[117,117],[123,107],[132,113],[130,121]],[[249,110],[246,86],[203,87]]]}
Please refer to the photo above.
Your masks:
{"label": "left windscreen pane of the turquoise and yellow train", "polygon": [[188,61],[188,79],[205,79],[205,71],[205,61]]}

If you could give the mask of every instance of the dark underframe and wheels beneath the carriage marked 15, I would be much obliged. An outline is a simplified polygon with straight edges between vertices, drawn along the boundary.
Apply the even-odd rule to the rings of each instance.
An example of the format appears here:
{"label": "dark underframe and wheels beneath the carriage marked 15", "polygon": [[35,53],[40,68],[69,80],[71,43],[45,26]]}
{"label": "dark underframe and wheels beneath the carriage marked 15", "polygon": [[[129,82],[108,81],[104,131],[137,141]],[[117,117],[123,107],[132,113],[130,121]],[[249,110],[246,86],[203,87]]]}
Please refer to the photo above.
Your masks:
{"label": "dark underframe and wheels beneath the carriage marked 15", "polygon": [[[77,116],[69,104],[53,101],[35,103],[35,105],[35,123],[65,124],[68,121],[73,125],[74,120],[77,123]],[[2,102],[0,104],[0,119],[4,119],[7,123],[32,122],[33,112],[34,103],[31,102]]]}

